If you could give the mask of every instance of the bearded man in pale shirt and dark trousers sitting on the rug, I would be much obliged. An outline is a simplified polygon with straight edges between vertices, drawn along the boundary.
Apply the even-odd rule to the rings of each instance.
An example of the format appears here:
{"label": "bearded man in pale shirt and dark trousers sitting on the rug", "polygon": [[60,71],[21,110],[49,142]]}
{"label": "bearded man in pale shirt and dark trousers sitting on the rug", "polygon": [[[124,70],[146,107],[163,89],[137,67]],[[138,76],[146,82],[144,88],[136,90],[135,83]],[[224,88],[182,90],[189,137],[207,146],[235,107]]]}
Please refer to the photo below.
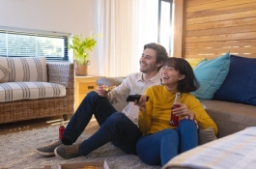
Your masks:
{"label": "bearded man in pale shirt and dark trousers sitting on the rug", "polygon": [[[123,112],[117,112],[112,103],[127,99],[129,94],[144,94],[153,85],[160,84],[160,70],[167,58],[166,49],[156,43],[144,45],[140,58],[140,71],[132,73],[110,93],[99,86],[97,92],[90,92],[81,102],[63,133],[63,139],[38,148],[40,155],[56,155],[72,158],[88,155],[102,145],[111,142],[127,154],[136,154],[136,142],[142,132],[137,125],[138,107],[129,102]],[[100,125],[99,130],[80,144],[72,145],[87,127],[92,116]]]}

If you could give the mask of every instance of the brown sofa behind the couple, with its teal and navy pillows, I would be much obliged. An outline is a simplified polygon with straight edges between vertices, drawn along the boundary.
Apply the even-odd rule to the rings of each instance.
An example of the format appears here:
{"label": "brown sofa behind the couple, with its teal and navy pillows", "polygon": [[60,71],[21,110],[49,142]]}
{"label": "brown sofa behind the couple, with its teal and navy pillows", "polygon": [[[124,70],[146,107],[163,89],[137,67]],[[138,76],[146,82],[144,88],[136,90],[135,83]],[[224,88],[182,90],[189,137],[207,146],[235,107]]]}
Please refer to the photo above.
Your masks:
{"label": "brown sofa behind the couple, with its teal and navy pillows", "polygon": [[[218,127],[217,138],[238,132],[245,127],[256,127],[256,90],[253,88],[256,84],[255,68],[256,59],[230,55],[229,52],[211,61],[200,59],[200,62],[194,68],[196,76],[197,71],[199,71],[204,72],[201,75],[213,76],[214,79],[214,81],[211,81],[197,76],[199,83],[202,85],[200,88],[203,88],[203,90],[200,89],[198,90],[199,94],[193,95],[200,99],[207,113],[213,118]],[[213,72],[211,69],[215,69],[215,71]],[[220,75],[222,75],[221,79]],[[117,86],[124,78],[103,77],[98,79],[97,83],[99,85]],[[210,84],[214,87],[214,90],[205,84],[207,80],[208,82],[211,81]],[[216,82],[216,80],[218,81]],[[244,98],[248,95],[248,99],[245,100]],[[117,110],[122,111],[126,104],[127,102],[124,101],[114,106]]]}

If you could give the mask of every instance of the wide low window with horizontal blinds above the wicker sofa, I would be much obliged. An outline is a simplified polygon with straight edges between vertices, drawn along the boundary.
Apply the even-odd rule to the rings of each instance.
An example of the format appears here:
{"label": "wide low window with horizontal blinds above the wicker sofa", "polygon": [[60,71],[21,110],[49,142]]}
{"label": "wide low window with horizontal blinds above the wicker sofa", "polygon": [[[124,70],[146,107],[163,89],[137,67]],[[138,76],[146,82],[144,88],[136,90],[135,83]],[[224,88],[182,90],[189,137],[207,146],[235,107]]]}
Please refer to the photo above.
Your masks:
{"label": "wide low window with horizontal blinds above the wicker sofa", "polygon": [[0,29],[0,56],[68,61],[68,37]]}

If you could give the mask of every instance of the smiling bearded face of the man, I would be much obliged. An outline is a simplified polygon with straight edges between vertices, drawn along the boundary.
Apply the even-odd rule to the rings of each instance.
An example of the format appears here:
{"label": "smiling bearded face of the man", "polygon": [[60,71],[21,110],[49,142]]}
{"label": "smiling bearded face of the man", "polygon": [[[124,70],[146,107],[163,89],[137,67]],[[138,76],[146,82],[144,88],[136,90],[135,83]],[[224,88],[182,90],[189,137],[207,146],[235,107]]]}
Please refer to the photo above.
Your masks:
{"label": "smiling bearded face of the man", "polygon": [[144,49],[139,64],[140,71],[144,73],[157,71],[161,66],[161,64],[156,64],[156,50],[152,48]]}

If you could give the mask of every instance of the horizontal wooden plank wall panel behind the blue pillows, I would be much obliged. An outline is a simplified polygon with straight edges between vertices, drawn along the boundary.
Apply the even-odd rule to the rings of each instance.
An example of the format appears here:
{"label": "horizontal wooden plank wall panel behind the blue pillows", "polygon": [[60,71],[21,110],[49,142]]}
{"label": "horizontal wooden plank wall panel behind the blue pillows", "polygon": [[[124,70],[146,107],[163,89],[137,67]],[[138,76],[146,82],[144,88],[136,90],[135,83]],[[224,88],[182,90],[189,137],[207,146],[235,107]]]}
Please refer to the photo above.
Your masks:
{"label": "horizontal wooden plank wall panel behind the blue pillows", "polygon": [[185,58],[256,58],[256,0],[184,1]]}

